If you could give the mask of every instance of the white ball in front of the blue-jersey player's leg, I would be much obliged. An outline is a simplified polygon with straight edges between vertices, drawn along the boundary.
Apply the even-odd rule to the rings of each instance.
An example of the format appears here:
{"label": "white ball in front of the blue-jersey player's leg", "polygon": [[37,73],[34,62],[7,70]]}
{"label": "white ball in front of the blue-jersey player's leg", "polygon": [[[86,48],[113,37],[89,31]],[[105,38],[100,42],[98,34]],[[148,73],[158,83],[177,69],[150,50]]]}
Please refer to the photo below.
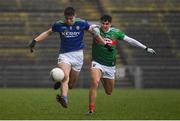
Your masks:
{"label": "white ball in front of the blue-jersey player's leg", "polygon": [[59,82],[64,79],[64,72],[62,69],[56,67],[51,70],[50,76],[54,81]]}

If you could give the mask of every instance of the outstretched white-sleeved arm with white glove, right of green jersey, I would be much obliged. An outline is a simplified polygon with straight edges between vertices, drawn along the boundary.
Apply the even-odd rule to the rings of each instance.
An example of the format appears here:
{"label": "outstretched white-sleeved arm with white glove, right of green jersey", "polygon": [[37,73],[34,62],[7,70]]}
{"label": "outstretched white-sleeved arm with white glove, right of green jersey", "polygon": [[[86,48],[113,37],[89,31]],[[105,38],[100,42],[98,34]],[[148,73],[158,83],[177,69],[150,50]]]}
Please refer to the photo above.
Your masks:
{"label": "outstretched white-sleeved arm with white glove, right of green jersey", "polygon": [[142,43],[140,43],[139,41],[137,41],[137,40],[135,40],[135,39],[133,39],[131,37],[128,37],[128,36],[125,35],[123,40],[128,42],[129,44],[131,44],[133,46],[143,48],[146,52],[149,52],[151,54],[156,54],[156,52],[152,48],[146,47],[145,45],[143,45]]}

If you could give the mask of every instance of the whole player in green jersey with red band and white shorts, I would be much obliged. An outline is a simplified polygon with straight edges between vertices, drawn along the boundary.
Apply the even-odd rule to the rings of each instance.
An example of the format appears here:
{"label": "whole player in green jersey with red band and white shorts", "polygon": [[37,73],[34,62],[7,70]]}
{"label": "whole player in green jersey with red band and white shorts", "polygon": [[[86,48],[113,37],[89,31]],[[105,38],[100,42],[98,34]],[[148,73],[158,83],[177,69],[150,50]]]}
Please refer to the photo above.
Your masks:
{"label": "whole player in green jersey with red band and white shorts", "polygon": [[89,90],[89,113],[95,109],[95,98],[97,88],[101,80],[106,94],[110,95],[114,88],[115,64],[116,64],[116,45],[118,41],[126,41],[133,46],[140,47],[149,53],[155,51],[146,47],[137,40],[128,37],[117,28],[111,27],[112,17],[104,15],[101,17],[100,28],[95,28],[96,34],[101,35],[106,44],[111,46],[112,51],[108,51],[97,39],[93,39],[92,63],[91,63],[91,86]]}

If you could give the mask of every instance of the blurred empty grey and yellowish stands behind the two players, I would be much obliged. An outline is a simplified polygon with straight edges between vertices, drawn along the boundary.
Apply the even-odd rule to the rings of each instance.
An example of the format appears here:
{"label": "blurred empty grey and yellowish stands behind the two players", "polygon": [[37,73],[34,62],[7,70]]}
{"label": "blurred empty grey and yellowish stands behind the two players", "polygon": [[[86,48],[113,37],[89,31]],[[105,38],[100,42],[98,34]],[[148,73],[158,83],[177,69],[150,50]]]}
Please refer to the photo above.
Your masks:
{"label": "blurred empty grey and yellowish stands behind the two players", "polygon": [[[117,88],[180,88],[180,0],[0,0],[0,87],[52,87],[49,72],[56,66],[59,35],[28,44],[63,18],[72,6],[77,16],[98,23],[104,13],[113,26],[153,48],[157,55],[120,42],[117,47]],[[87,47],[77,87],[90,82],[92,36],[85,33]]]}

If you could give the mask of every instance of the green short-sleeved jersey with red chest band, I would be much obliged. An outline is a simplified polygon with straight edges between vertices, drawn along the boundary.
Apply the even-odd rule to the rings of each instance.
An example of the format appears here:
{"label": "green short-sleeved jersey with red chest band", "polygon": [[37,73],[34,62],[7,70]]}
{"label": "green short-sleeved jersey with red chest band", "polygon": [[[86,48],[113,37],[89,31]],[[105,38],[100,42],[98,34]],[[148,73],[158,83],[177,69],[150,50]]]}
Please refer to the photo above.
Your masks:
{"label": "green short-sleeved jersey with red chest band", "polygon": [[106,66],[115,66],[116,63],[116,45],[119,40],[124,39],[125,34],[119,29],[111,27],[107,32],[100,28],[100,35],[112,46],[113,51],[108,51],[104,45],[95,38],[92,45],[92,60]]}

